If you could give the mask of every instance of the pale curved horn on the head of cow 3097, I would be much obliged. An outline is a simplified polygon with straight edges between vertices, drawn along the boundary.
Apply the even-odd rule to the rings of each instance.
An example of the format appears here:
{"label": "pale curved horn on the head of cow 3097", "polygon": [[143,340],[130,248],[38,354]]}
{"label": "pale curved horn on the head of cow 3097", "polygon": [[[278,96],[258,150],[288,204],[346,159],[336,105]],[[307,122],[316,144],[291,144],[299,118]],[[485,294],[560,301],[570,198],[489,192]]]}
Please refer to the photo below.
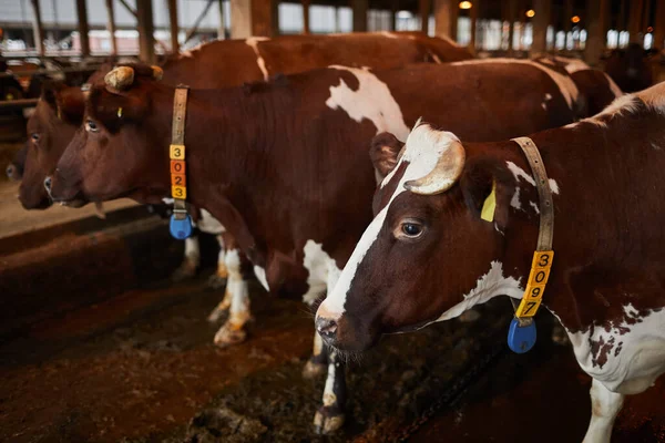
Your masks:
{"label": "pale curved horn on the head of cow 3097", "polygon": [[433,195],[443,193],[458,181],[464,168],[467,154],[458,141],[453,141],[439,156],[437,166],[424,177],[408,181],[405,188],[413,194]]}

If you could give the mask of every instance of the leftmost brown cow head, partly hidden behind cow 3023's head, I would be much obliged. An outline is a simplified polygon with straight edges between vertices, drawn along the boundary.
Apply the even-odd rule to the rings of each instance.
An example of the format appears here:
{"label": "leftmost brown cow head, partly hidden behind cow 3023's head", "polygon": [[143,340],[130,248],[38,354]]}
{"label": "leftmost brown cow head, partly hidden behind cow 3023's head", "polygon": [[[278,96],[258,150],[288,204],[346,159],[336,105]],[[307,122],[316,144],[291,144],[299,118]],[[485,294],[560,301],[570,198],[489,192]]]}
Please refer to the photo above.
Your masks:
{"label": "leftmost brown cow head, partly hidden behind cow 3023's head", "polygon": [[[28,120],[28,141],[14,171],[22,171],[19,199],[25,209],[51,205],[44,179],[55,169],[64,148],[81,125],[84,94],[80,87],[61,83],[44,86],[40,101]],[[21,154],[21,153],[19,153]],[[22,162],[21,162],[22,161]]]}

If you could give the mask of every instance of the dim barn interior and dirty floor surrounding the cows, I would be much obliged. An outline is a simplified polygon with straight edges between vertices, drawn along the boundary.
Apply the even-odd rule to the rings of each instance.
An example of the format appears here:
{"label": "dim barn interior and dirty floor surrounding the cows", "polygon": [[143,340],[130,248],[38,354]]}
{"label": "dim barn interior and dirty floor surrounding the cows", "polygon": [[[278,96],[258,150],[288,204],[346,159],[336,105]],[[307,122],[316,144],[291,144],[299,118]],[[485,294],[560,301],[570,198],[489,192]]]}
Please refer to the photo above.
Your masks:
{"label": "dim barn interior and dirty floor surrounding the cows", "polygon": [[[591,378],[544,309],[524,354],[507,347],[513,310],[498,297],[346,356],[346,421],[326,433],[313,424],[325,371],[303,373],[316,309],[298,295],[248,278],[250,319],[221,343],[216,234],[197,233],[192,264],[171,205],[18,198],[29,121],[54,84],[85,89],[123,63],[167,71],[217,41],[259,42],[262,59],[264,39],[407,32],[470,59],[574,59],[625,93],[665,81],[665,0],[0,0],[1,441],[582,441]],[[665,442],[664,395],[658,381],[626,398],[612,442]]]}

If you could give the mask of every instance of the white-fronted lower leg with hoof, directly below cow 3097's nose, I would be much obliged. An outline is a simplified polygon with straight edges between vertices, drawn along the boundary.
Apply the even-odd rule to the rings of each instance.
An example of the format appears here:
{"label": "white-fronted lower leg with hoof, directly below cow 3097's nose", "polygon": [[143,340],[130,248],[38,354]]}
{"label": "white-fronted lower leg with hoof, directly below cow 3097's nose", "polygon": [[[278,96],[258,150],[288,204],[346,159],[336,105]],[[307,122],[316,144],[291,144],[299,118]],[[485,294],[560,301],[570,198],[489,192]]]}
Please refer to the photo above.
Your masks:
{"label": "white-fronted lower leg with hoof, directly below cow 3097's nose", "polygon": [[328,378],[324,389],[324,404],[314,415],[317,434],[331,434],[344,424],[344,404],[346,402],[345,364],[337,351],[326,347],[328,353]]}

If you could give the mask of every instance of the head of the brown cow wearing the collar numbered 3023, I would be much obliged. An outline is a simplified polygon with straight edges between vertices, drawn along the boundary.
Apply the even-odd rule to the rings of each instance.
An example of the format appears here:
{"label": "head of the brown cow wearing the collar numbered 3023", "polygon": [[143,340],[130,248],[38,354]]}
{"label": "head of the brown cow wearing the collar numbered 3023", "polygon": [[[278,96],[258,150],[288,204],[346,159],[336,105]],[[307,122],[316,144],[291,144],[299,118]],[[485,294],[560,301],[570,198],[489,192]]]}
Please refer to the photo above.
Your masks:
{"label": "head of the brown cow wearing the collar numbered 3023", "polygon": [[171,112],[155,110],[172,109],[173,89],[158,83],[161,74],[123,65],[91,86],[83,125],[45,183],[54,202],[127,196],[161,203],[168,194]]}

